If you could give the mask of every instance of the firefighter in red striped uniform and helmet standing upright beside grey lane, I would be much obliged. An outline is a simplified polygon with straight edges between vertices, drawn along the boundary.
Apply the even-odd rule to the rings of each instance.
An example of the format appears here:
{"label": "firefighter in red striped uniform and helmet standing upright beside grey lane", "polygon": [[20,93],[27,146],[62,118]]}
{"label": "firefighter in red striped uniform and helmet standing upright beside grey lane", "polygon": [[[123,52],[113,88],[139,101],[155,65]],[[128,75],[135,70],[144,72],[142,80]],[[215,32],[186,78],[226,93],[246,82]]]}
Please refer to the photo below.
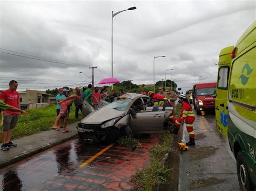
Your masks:
{"label": "firefighter in red striped uniform and helmet standing upright beside grey lane", "polygon": [[175,118],[173,116],[170,116],[169,118],[173,121],[175,128],[171,130],[172,133],[178,134],[180,124],[186,124],[187,132],[190,135],[190,141],[186,143],[186,145],[195,145],[194,143],[194,130],[193,130],[193,122],[195,119],[193,109],[190,105],[190,103],[187,100],[186,95],[180,94],[179,95],[180,101],[181,101],[181,114],[179,118]]}

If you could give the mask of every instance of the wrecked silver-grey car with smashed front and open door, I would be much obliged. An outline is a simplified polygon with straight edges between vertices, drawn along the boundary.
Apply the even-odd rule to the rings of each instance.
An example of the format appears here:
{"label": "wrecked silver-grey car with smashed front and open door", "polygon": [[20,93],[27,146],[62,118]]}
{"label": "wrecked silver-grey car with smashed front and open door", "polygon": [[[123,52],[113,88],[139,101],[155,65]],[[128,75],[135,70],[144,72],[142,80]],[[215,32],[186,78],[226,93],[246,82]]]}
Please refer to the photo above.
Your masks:
{"label": "wrecked silver-grey car with smashed front and open door", "polygon": [[149,96],[128,93],[86,116],[77,131],[85,140],[115,142],[120,133],[159,133],[173,108],[167,100],[163,107],[151,107]]}

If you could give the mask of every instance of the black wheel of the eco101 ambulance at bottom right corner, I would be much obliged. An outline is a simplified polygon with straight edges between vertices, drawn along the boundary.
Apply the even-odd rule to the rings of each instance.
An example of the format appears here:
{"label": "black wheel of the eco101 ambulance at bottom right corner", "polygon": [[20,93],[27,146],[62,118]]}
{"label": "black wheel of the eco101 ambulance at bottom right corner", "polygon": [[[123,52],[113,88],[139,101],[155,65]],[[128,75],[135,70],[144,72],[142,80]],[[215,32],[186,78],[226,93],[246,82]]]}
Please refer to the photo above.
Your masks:
{"label": "black wheel of the eco101 ambulance at bottom right corner", "polygon": [[248,169],[245,165],[245,160],[242,157],[242,151],[240,150],[237,154],[237,176],[240,189],[245,190],[255,190],[253,183],[248,174]]}

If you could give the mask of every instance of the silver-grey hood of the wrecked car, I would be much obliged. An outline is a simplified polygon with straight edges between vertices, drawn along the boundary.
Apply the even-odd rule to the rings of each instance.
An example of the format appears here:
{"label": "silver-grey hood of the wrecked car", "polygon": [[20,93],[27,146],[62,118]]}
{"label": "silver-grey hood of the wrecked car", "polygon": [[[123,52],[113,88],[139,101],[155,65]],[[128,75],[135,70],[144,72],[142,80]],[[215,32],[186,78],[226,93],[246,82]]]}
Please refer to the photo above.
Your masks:
{"label": "silver-grey hood of the wrecked car", "polygon": [[110,108],[101,108],[95,112],[92,112],[84,119],[82,119],[81,123],[84,124],[101,124],[105,121],[109,121],[110,119],[116,117],[123,117],[125,111],[117,111]]}

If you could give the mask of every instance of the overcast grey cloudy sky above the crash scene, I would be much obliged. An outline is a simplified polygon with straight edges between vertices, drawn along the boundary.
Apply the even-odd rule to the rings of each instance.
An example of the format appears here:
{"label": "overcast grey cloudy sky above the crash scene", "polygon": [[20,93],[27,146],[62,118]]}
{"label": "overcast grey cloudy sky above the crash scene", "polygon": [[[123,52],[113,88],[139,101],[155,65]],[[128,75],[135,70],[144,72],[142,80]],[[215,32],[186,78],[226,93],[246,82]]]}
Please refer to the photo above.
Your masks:
{"label": "overcast grey cloudy sky above the crash scene", "polygon": [[95,86],[111,77],[111,11],[137,7],[113,18],[114,77],[152,84],[153,58],[165,55],[155,59],[155,81],[173,69],[167,79],[175,75],[183,91],[210,82],[206,72],[217,72],[220,49],[235,45],[255,20],[255,1],[0,0],[0,6],[0,89],[15,79],[18,90],[87,86],[90,66],[98,67]]}

